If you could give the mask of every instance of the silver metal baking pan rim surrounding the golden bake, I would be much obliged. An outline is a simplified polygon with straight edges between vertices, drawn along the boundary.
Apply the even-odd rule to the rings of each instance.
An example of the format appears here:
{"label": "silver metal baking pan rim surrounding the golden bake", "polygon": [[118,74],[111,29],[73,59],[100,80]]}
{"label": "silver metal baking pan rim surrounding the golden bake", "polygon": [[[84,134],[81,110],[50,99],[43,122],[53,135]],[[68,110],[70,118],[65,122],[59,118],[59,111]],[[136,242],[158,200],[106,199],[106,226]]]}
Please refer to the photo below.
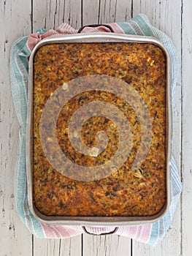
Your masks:
{"label": "silver metal baking pan rim surrounding the golden bake", "polygon": [[[42,45],[53,43],[77,43],[77,42],[136,42],[158,45],[166,56],[166,203],[164,208],[150,217],[47,217],[41,214],[33,203],[33,61],[34,55]],[[28,78],[28,106],[26,121],[26,170],[28,184],[28,206],[31,213],[41,222],[50,225],[93,225],[93,226],[119,226],[119,225],[145,225],[161,219],[169,208],[170,203],[170,172],[172,152],[172,101],[171,101],[171,60],[168,51],[157,39],[153,37],[141,37],[115,33],[90,33],[69,34],[43,39],[31,53],[29,59]]]}

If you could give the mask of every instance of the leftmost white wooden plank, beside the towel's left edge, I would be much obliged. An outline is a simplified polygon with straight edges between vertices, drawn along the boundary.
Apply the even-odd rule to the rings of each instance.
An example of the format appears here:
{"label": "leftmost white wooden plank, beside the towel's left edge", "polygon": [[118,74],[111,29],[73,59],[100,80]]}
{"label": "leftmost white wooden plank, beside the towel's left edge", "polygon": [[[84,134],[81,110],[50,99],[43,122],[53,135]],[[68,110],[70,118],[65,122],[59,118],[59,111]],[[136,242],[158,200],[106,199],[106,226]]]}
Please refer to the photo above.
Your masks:
{"label": "leftmost white wooden plank, beside the towel's left edge", "polygon": [[10,47],[18,37],[31,32],[30,15],[29,1],[0,1],[0,255],[3,256],[29,256],[32,252],[31,233],[15,208],[14,169],[19,125],[9,83]]}

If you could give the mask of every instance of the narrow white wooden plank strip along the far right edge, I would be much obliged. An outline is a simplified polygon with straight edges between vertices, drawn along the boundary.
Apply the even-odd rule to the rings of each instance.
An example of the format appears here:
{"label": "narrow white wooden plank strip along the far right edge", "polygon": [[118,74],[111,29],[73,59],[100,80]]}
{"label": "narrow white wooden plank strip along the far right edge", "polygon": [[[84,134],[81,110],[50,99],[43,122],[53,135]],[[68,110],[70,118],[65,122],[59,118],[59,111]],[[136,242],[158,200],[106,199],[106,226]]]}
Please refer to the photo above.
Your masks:
{"label": "narrow white wooden plank strip along the far right edge", "polygon": [[183,99],[183,136],[182,136],[182,177],[183,177],[183,195],[182,195],[182,253],[183,256],[191,255],[192,244],[192,19],[191,19],[192,2],[183,1],[183,26],[182,26],[182,99]]}

